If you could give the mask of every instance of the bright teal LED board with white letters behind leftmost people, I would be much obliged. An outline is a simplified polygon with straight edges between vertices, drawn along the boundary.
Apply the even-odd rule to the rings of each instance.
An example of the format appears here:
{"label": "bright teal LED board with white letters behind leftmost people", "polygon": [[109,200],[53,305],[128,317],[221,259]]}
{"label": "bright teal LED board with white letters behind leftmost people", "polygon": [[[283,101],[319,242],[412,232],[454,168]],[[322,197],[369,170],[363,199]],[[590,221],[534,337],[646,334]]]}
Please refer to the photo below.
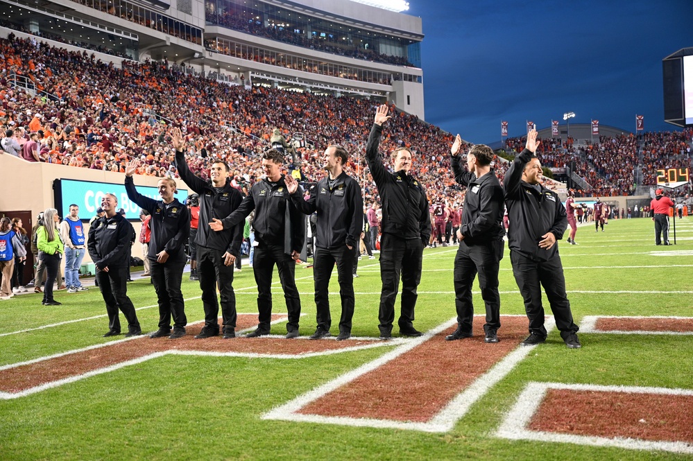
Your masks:
{"label": "bright teal LED board with white letters behind leftmost people", "polygon": [[[118,199],[118,209],[125,210],[125,217],[128,220],[139,221],[139,207],[135,202],[130,201],[123,183],[58,179],[53,183],[53,191],[55,192],[55,209],[60,216],[66,216],[70,205],[74,203],[80,208],[82,219],[89,220],[96,214],[96,209],[101,207],[103,195],[112,193]],[[156,187],[137,186],[137,192],[148,198],[161,200],[159,189]],[[178,193],[174,195],[180,202],[184,202],[187,196],[187,189],[178,189]]]}

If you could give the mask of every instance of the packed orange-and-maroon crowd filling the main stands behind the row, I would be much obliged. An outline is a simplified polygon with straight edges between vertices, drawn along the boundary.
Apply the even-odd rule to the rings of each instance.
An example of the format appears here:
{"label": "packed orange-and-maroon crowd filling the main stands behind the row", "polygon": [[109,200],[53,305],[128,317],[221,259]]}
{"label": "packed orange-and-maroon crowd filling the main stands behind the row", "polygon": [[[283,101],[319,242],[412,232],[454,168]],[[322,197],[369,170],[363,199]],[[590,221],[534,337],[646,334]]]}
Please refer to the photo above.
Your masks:
{"label": "packed orange-and-maroon crowd filling the main stands behind the row", "polygon": [[[139,158],[137,174],[177,177],[170,129],[187,134],[191,170],[206,179],[210,158],[221,158],[233,168],[234,184],[248,189],[262,175],[258,154],[265,150],[274,128],[286,139],[302,134],[307,143],[296,149],[296,162],[308,182],[323,175],[320,155],[339,144],[351,153],[347,170],[359,178],[366,201],[377,191],[363,158],[365,140],[373,124],[372,101],[336,98],[279,89],[226,85],[182,73],[166,62],[124,62],[122,69],[96,60],[94,55],[58,49],[34,40],[0,40],[0,125],[3,134],[31,146],[36,133],[37,158],[28,161],[60,163],[80,168],[124,172],[128,157]],[[32,96],[14,88],[14,75],[25,76],[49,96]],[[163,117],[163,118],[162,118]],[[652,134],[647,146],[668,146],[679,137],[679,152],[690,144],[691,132]],[[5,136],[6,137],[6,136]],[[416,175],[427,184],[430,200],[462,202],[461,187],[450,171],[452,135],[416,116],[396,112],[381,143],[382,152],[398,146],[416,156]],[[523,139],[508,139],[515,152]],[[658,147],[657,152],[660,147]],[[547,140],[540,145],[545,166],[563,166],[570,159],[599,195],[623,195],[633,187],[637,139],[601,139],[599,144],[575,149]],[[387,157],[387,156],[386,156]],[[650,157],[647,157],[648,159]],[[385,158],[389,166],[389,159]],[[297,167],[298,167],[297,166]],[[502,180],[508,163],[494,162]],[[545,184],[552,186],[548,180]],[[579,195],[579,194],[578,194]]]}

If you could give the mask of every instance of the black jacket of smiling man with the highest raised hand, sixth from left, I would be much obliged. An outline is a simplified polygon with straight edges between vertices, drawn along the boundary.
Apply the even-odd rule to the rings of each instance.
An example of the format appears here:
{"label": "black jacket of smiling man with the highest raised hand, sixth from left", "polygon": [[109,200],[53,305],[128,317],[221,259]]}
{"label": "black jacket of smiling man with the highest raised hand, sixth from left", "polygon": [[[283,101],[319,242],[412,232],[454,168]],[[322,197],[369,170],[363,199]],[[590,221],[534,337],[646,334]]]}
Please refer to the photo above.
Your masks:
{"label": "black jacket of smiling man with the highest raised hand, sixth from left", "polygon": [[382,126],[373,123],[366,146],[366,160],[370,174],[382,200],[383,218],[380,230],[400,238],[420,238],[428,245],[431,238],[431,216],[423,186],[404,173],[389,173],[378,152]]}

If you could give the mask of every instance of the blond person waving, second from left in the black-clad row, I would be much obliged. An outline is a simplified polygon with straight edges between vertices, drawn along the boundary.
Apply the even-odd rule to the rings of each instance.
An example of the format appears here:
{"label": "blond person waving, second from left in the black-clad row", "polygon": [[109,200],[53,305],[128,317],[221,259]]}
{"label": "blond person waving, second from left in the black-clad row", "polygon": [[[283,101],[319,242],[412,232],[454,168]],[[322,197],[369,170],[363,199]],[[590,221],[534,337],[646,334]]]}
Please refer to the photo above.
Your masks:
{"label": "blond person waving, second from left in the black-clad row", "polygon": [[180,282],[187,261],[185,241],[190,232],[190,212],[173,196],[176,193],[176,181],[169,177],[160,179],[157,184],[162,200],[153,200],[138,193],[132,180],[137,166],[139,162],[135,159],[128,162],[125,169],[125,189],[128,198],[149,211],[151,216],[151,239],[148,253],[144,257],[150,261],[149,270],[158,298],[159,329],[149,337],[182,338],[185,336],[187,318]]}

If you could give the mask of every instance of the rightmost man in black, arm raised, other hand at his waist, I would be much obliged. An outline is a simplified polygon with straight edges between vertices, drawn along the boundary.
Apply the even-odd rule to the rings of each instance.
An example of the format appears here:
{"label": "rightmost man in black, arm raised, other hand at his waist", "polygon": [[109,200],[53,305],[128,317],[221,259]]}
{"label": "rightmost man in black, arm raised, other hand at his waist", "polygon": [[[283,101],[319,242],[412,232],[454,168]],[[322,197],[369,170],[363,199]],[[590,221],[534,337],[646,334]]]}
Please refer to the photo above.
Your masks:
{"label": "rightmost man in black, arm raised, other hand at his waist", "polygon": [[510,221],[510,260],[529,318],[529,336],[522,345],[546,340],[541,302],[543,286],[561,338],[567,347],[577,349],[581,347],[578,326],[573,322],[565,293],[563,266],[556,244],[556,240],[563,238],[567,215],[558,194],[541,184],[541,164],[533,157],[540,144],[536,137],[536,130],[527,134],[527,145],[515,157],[503,180]]}

